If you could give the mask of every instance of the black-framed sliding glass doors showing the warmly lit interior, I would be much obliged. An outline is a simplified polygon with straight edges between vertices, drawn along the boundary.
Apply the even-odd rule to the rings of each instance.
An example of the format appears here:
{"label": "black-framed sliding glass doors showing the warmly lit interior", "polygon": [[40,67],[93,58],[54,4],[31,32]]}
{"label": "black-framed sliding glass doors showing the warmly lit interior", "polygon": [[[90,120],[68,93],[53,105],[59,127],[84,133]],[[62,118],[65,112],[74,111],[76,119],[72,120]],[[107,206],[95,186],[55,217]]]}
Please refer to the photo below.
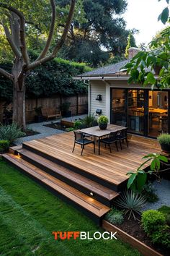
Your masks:
{"label": "black-framed sliding glass doors showing the warmly lit interior", "polygon": [[167,91],[112,88],[111,123],[138,135],[158,137],[170,130],[169,98]]}

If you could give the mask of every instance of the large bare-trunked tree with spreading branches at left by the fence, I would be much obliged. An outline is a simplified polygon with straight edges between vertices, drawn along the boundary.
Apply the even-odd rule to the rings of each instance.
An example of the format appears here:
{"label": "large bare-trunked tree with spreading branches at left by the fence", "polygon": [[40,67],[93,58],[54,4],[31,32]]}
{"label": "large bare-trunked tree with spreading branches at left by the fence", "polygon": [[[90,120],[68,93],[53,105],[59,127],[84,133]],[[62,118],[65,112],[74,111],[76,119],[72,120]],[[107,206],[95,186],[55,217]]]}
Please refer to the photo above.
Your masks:
{"label": "large bare-trunked tree with spreading branches at left by the fence", "polygon": [[[24,1],[20,1],[19,4],[26,4],[26,1],[24,3],[23,2]],[[35,59],[35,61],[31,62],[27,51],[25,32],[27,24],[23,12],[20,11],[19,8],[17,9],[9,4],[0,2],[0,7],[3,10],[1,15],[1,26],[4,28],[4,35],[6,36],[6,40],[8,41],[14,55],[12,72],[9,73],[5,69],[0,68],[0,74],[11,80],[13,83],[13,121],[17,122],[17,124],[22,126],[23,129],[25,129],[25,78],[30,74],[30,70],[35,69],[41,64],[54,59],[58,54],[58,51],[66,40],[66,36],[73,17],[75,3],[76,0],[71,0],[71,6],[68,12],[66,25],[64,25],[63,28],[63,33],[61,34],[60,39],[53,46],[53,49],[49,52],[49,48],[55,32],[56,20],[55,0],[50,0],[52,14],[48,37],[40,55],[37,57],[37,59]],[[43,11],[45,12],[45,10]],[[41,16],[43,16],[42,13]],[[32,20],[30,22],[32,22]]]}

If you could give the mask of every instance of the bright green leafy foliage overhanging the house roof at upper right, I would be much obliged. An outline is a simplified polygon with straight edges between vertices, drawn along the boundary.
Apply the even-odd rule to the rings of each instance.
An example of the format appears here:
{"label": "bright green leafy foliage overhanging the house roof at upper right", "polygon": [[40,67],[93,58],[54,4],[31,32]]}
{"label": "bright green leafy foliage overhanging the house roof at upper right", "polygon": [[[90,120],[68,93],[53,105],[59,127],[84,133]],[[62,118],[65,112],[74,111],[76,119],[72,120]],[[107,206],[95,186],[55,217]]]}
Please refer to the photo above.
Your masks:
{"label": "bright green leafy foliage overhanging the house roof at upper right", "polygon": [[[160,0],[159,0],[160,1]],[[169,4],[169,0],[166,0]],[[128,68],[129,83],[138,82],[141,85],[152,85],[152,88],[169,88],[170,85],[170,26],[169,7],[166,7],[158,17],[168,27],[150,43],[151,51],[140,51],[125,67]],[[150,71],[148,71],[148,67]],[[153,71],[158,76],[156,79]]]}

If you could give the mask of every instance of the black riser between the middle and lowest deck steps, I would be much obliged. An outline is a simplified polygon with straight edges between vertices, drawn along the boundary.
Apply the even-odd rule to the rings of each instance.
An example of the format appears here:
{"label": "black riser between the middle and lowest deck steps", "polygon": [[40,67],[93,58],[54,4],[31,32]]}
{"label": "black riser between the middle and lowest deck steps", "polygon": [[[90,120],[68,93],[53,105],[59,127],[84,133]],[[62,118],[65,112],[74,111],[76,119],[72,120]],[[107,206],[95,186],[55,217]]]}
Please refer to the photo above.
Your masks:
{"label": "black riser between the middle and lowest deck steps", "polygon": [[[62,182],[67,183],[68,185],[70,185],[71,187],[74,187],[76,189],[78,189],[79,191],[83,192],[86,195],[90,196],[90,192],[91,190],[87,189],[86,187],[82,187],[80,184],[77,184],[76,182],[73,182],[72,180],[68,179],[66,176],[63,176],[61,174],[56,173],[55,171],[51,170],[50,168],[48,168],[47,166],[42,165],[41,163],[39,163],[38,161],[33,160],[32,158],[27,157],[27,155],[23,155],[22,153],[19,152],[19,154],[21,155],[21,157],[29,162],[32,163],[34,166],[36,166],[37,168],[40,168],[42,171],[47,172],[48,174],[50,174],[51,176],[54,176],[57,179],[60,179]],[[92,191],[93,192],[93,191]],[[111,207],[112,205],[112,201],[107,200],[107,198],[102,197],[101,195],[97,195],[95,193],[95,191],[93,192],[94,196],[93,198],[99,202],[102,202],[104,205],[107,205],[108,207]]]}

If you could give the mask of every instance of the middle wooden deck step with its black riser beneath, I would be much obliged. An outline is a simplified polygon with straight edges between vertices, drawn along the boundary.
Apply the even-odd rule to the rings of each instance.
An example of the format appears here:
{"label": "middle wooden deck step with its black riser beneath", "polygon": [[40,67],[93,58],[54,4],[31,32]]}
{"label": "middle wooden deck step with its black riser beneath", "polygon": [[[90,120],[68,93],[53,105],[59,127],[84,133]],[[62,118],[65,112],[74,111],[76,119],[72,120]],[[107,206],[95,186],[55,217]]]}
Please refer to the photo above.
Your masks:
{"label": "middle wooden deck step with its black riser beneath", "polygon": [[119,195],[119,193],[113,191],[112,189],[104,187],[101,184],[82,176],[81,174],[77,174],[76,172],[63,167],[58,163],[54,163],[40,155],[30,152],[29,150],[23,148],[17,150],[17,153],[19,153],[24,160],[32,163],[38,168],[41,168],[48,174],[55,176],[55,178],[66,182],[67,184],[71,185],[71,187],[79,189],[81,192],[84,192],[84,194],[90,195],[90,193],[93,193],[94,199],[109,207],[112,200]]}

